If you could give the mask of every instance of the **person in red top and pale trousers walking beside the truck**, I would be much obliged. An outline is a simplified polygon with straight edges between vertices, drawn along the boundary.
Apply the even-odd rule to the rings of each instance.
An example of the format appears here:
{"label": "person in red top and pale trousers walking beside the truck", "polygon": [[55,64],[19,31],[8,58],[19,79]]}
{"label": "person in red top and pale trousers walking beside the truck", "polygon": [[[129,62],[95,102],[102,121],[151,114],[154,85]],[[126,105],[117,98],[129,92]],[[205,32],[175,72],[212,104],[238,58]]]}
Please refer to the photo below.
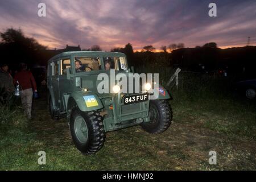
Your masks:
{"label": "person in red top and pale trousers walking beside the truck", "polygon": [[33,90],[34,92],[38,91],[36,90],[35,78],[30,71],[27,71],[27,65],[21,63],[20,67],[21,71],[14,76],[14,84],[16,84],[16,81],[19,82],[22,105],[27,118],[31,119]]}

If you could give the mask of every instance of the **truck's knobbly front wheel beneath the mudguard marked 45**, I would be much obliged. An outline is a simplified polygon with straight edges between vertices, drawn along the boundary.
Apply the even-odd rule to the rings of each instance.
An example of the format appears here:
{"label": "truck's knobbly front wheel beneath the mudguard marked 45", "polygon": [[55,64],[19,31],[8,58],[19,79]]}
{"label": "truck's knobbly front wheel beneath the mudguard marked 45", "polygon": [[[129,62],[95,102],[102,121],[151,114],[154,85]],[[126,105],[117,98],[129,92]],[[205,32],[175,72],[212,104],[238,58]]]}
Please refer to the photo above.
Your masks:
{"label": "truck's knobbly front wheel beneath the mudguard marked 45", "polygon": [[82,154],[94,154],[103,146],[106,136],[98,111],[83,112],[76,107],[71,113],[69,126],[73,142]]}

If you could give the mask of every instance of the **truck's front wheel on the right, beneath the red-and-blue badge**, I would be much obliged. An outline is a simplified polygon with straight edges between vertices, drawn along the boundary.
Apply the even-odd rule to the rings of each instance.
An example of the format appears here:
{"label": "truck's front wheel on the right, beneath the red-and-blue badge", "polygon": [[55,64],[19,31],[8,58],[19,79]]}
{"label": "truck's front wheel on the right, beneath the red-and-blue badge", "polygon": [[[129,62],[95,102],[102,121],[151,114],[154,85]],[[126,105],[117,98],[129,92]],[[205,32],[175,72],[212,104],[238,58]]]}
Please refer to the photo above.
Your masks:
{"label": "truck's front wheel on the right, beneath the red-and-blue badge", "polygon": [[141,123],[148,133],[163,133],[171,125],[172,109],[166,100],[150,100],[150,121]]}

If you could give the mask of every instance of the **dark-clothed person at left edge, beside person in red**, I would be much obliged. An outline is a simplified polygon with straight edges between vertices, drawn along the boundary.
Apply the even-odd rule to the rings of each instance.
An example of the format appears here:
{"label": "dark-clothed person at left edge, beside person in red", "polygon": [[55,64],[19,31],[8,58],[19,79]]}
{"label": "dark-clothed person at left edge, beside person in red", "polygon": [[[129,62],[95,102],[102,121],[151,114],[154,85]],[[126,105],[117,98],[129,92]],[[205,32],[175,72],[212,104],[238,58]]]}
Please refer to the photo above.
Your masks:
{"label": "dark-clothed person at left edge, beside person in red", "polygon": [[0,68],[0,92],[3,100],[9,101],[14,94],[13,77],[8,72],[8,65],[2,64]]}

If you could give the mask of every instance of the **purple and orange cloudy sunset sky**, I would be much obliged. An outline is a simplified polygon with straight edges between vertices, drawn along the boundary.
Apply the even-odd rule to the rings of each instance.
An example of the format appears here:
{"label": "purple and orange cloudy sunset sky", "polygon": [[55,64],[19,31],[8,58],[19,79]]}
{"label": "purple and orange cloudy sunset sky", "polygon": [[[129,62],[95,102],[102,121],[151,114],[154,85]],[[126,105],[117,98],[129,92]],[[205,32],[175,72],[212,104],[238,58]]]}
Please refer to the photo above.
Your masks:
{"label": "purple and orange cloudy sunset sky", "polygon": [[[46,17],[38,4],[46,3]],[[217,17],[208,5],[217,4]],[[20,28],[49,49],[98,44],[109,51],[131,43],[136,50],[172,43],[185,47],[216,42],[218,47],[256,45],[256,1],[200,0],[1,0],[0,31]]]}

